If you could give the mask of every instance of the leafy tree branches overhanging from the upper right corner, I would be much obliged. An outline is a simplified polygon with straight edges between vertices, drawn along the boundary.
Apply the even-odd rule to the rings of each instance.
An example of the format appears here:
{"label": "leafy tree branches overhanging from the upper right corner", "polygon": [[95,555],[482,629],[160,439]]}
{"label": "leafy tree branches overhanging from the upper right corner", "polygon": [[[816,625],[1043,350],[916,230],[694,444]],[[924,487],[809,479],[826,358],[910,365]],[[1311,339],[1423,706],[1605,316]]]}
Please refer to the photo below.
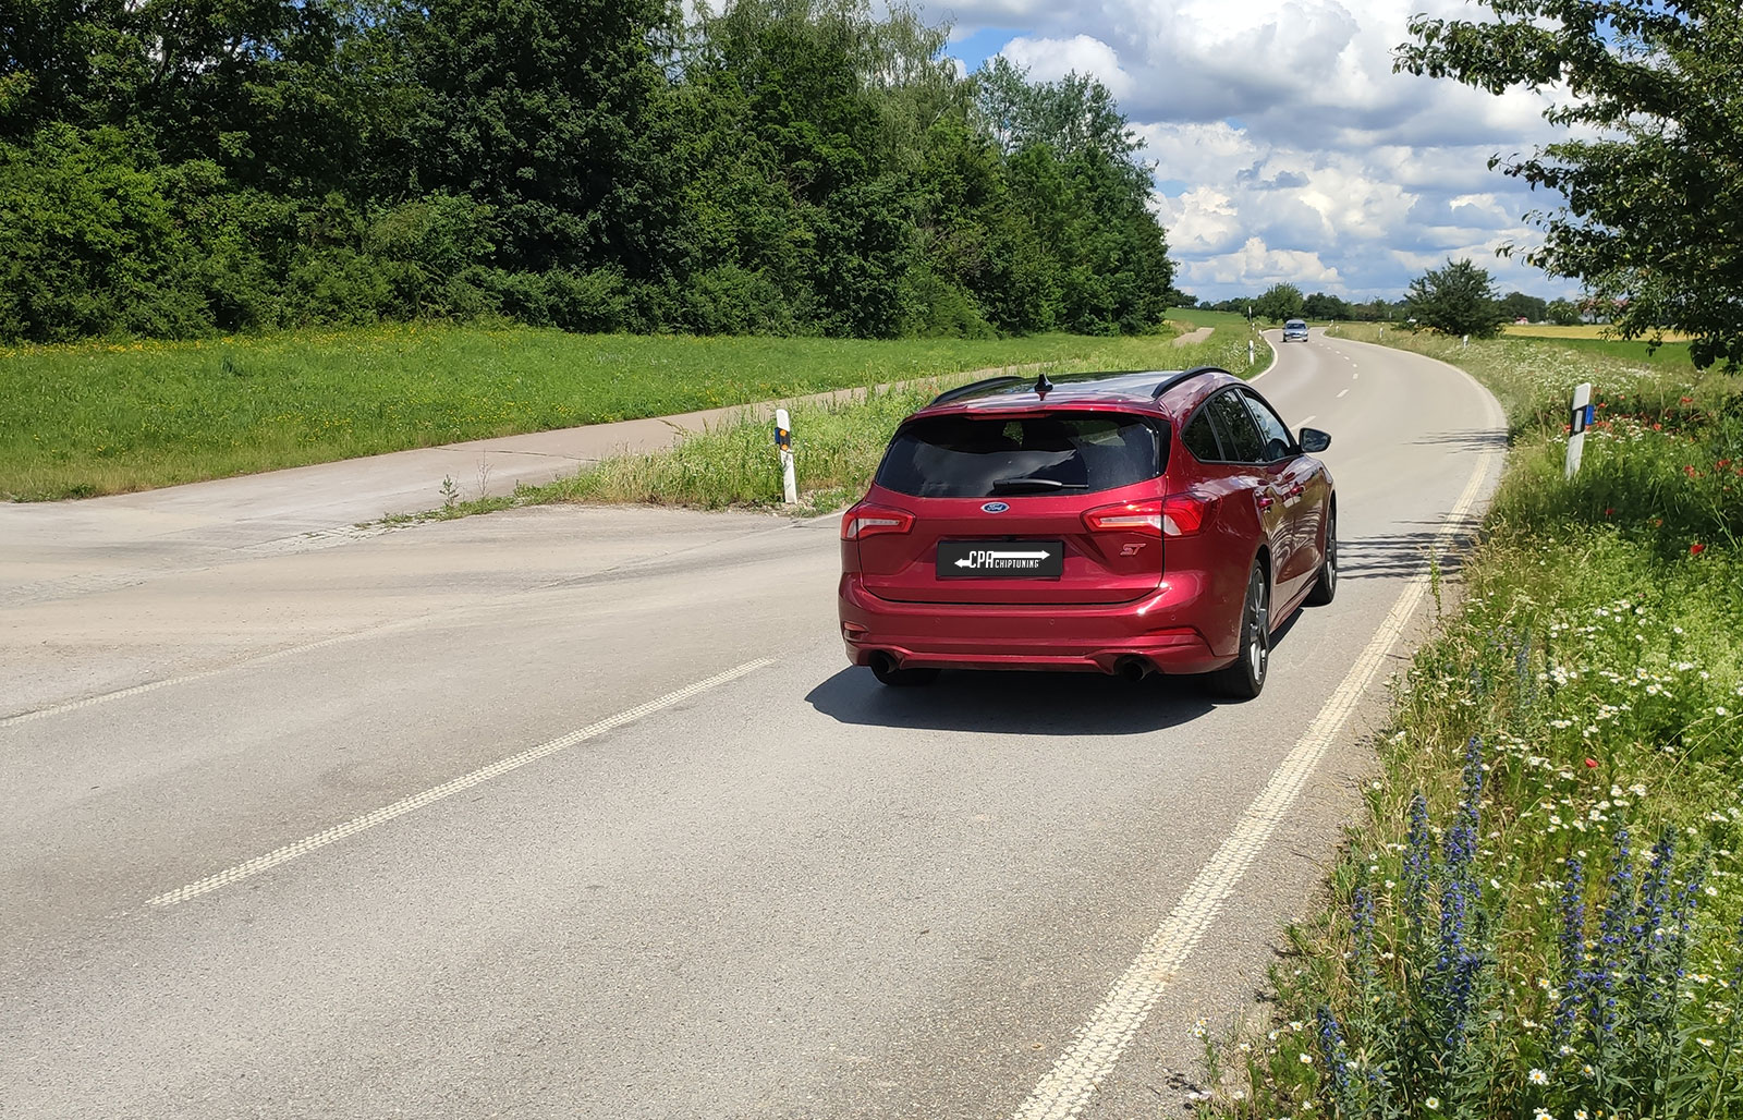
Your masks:
{"label": "leafy tree branches overhanging from the upper right corner", "polygon": [[1619,307],[1616,328],[1692,335],[1743,365],[1743,19],[1736,0],[1480,0],[1492,19],[1410,24],[1400,70],[1489,92],[1563,89],[1551,124],[1588,136],[1490,167],[1565,204],[1532,215],[1527,260]]}

